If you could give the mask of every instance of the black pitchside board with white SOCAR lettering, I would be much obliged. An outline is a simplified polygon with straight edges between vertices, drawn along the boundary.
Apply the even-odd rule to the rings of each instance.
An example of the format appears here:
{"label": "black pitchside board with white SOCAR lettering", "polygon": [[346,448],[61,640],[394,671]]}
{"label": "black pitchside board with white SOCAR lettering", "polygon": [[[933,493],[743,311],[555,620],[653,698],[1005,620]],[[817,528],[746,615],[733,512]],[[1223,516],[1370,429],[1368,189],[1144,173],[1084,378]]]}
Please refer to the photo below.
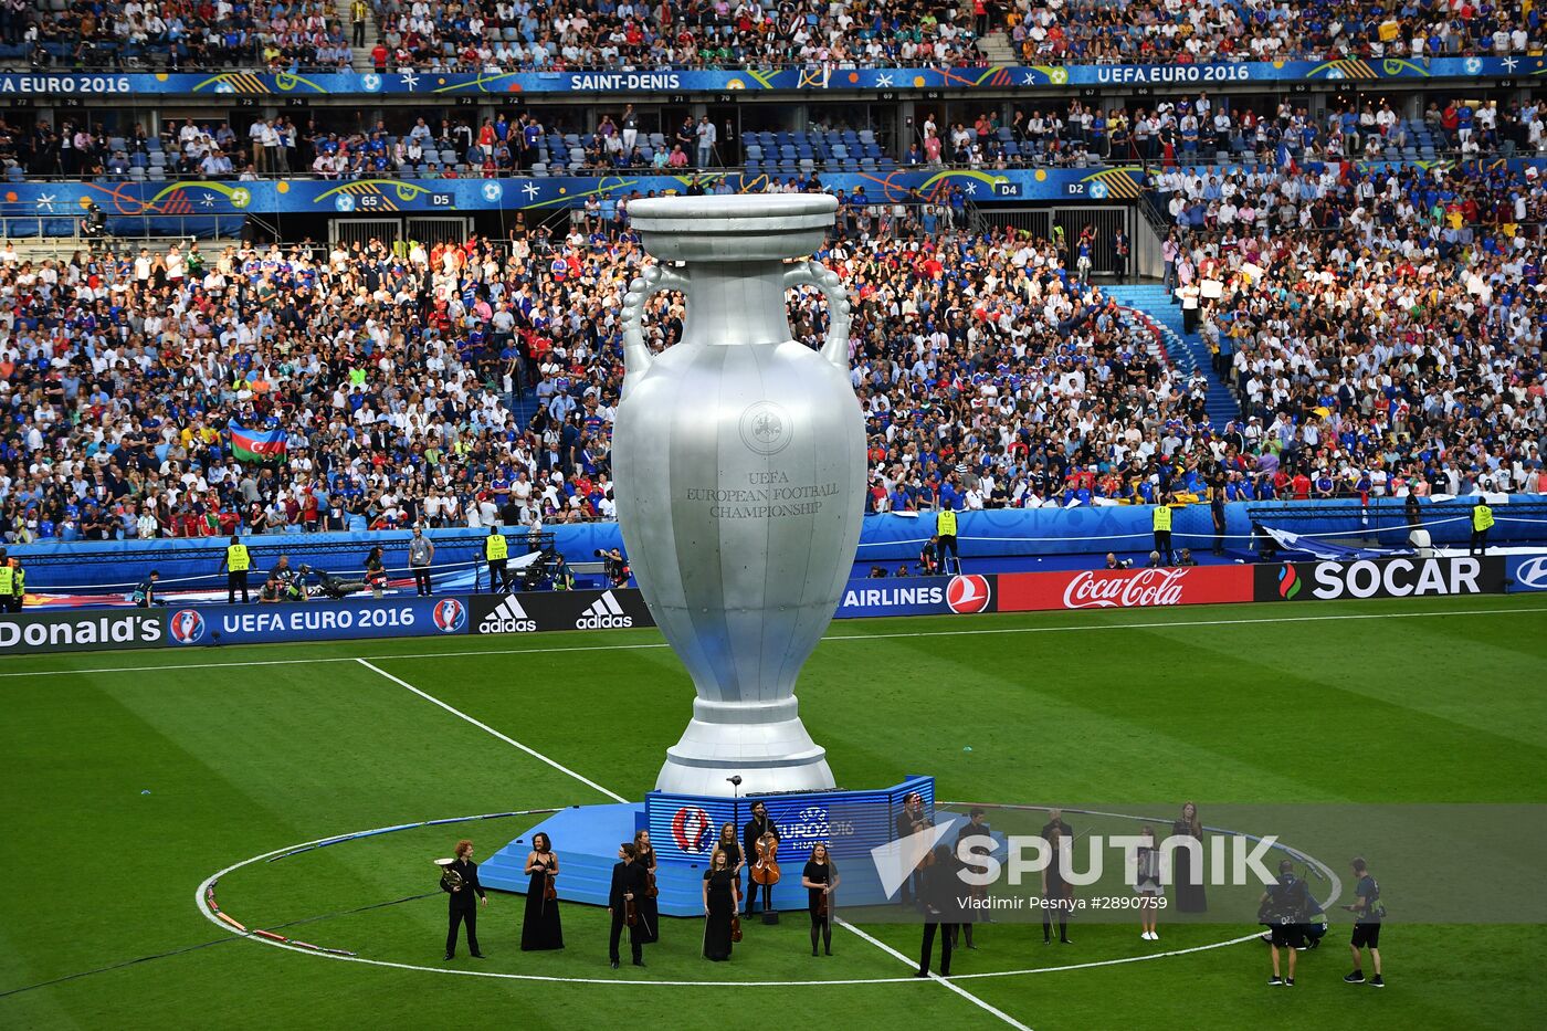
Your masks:
{"label": "black pitchside board with white SOCAR lettering", "polygon": [[1253,567],[1256,601],[1502,594],[1504,559],[1380,559]]}

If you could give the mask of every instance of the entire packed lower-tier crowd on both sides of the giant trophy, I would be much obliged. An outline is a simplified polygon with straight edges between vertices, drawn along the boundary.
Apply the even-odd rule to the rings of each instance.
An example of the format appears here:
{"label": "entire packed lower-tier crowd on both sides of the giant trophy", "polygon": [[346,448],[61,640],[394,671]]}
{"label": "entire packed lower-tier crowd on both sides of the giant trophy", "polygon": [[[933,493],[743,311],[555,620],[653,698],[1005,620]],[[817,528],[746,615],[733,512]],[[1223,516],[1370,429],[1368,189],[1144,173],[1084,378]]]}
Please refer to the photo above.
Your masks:
{"label": "entire packed lower-tier crowd on both sides of the giant trophy", "polygon": [[[1247,418],[1211,426],[1208,378],[1084,282],[1111,241],[851,201],[818,257],[854,296],[868,511],[1547,488],[1538,180],[1292,166],[1205,201],[1165,175],[1219,206],[1168,243],[1168,277]],[[627,203],[586,218],[433,248],[0,248],[5,537],[610,519],[642,254]],[[682,300],[651,305],[668,345]],[[815,294],[791,319],[820,341]],[[232,420],[282,430],[288,460],[237,461]]]}

